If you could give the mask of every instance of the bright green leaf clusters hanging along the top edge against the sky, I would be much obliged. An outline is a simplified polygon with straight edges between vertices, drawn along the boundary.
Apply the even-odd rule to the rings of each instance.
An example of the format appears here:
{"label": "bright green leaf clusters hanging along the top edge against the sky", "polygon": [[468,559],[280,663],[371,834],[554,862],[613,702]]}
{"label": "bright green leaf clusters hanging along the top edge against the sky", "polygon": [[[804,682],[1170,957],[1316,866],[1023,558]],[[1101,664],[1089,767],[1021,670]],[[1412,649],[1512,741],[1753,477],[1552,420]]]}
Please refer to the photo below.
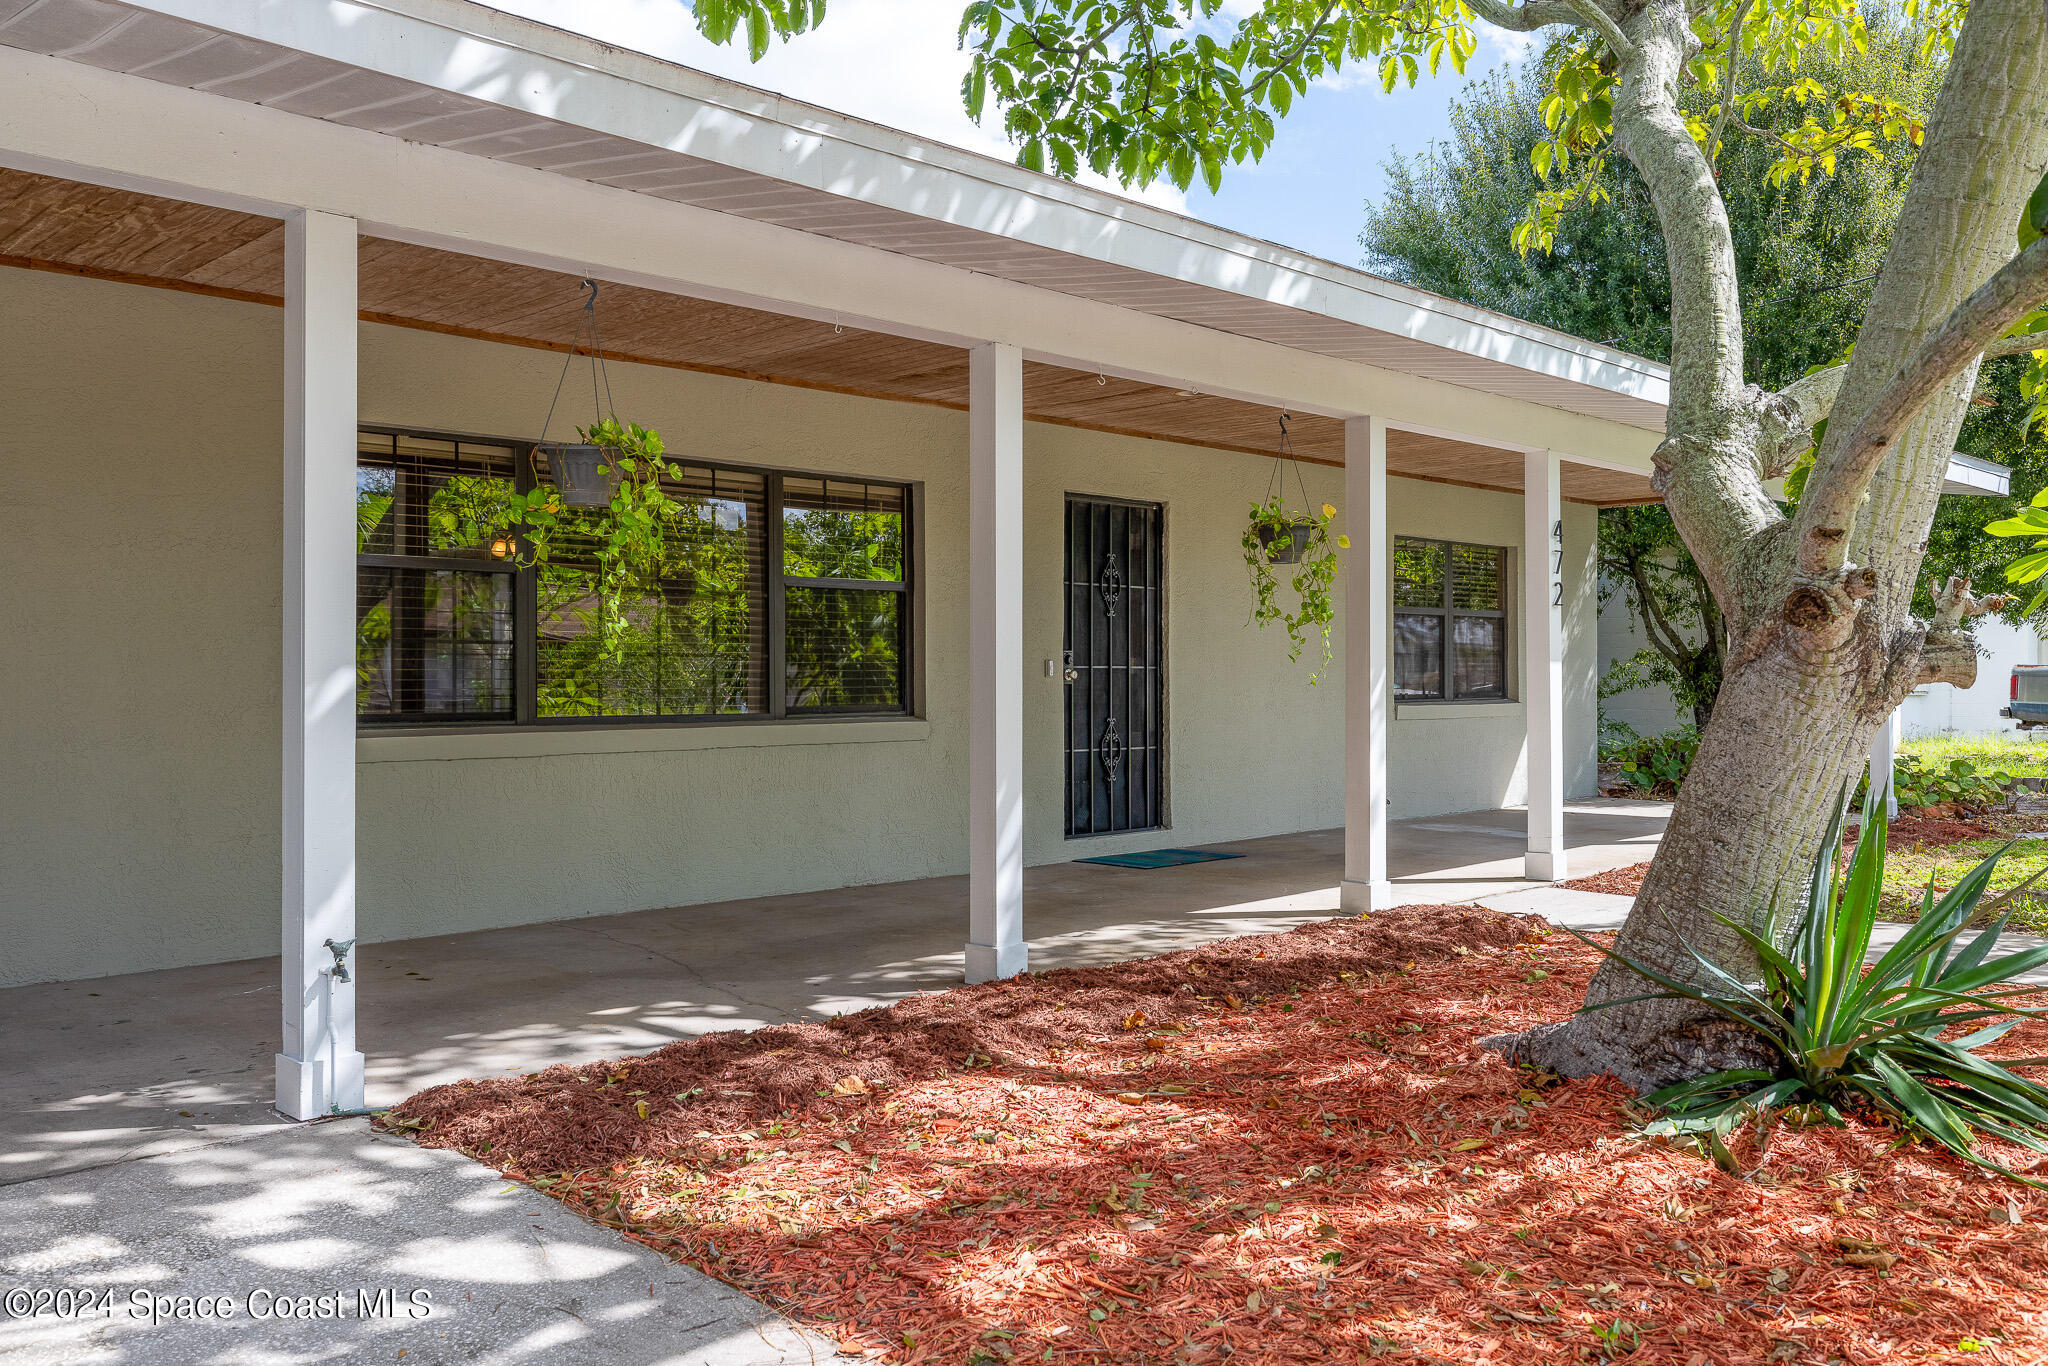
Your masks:
{"label": "bright green leaf clusters hanging along the top edge against the sky", "polygon": [[[1952,45],[1964,0],[1909,0],[1929,45]],[[823,20],[823,0],[696,0],[698,31],[713,43],[745,35],[760,59],[770,37]],[[1778,184],[1833,174],[1847,154],[1919,143],[1915,109],[1880,90],[1825,88],[1802,74],[1810,59],[1841,63],[1868,49],[1855,0],[1710,0],[1694,14],[1702,51],[1686,80],[1708,98],[1690,113],[1694,135],[1718,154],[1741,125],[1765,125],[1780,147]],[[1382,90],[1413,86],[1448,61],[1464,72],[1479,49],[1464,0],[971,0],[958,41],[971,55],[961,102],[977,121],[989,100],[1030,170],[1075,176],[1085,164],[1124,184],[1200,176],[1217,190],[1227,166],[1257,160],[1274,125],[1309,86],[1370,66]],[[1550,141],[1534,162],[1546,186],[1518,250],[1548,252],[1556,221],[1608,199],[1604,152],[1614,131],[1614,53],[1583,29],[1554,41],[1569,57],[1544,104]],[[1735,72],[1726,111],[1724,78]]]}

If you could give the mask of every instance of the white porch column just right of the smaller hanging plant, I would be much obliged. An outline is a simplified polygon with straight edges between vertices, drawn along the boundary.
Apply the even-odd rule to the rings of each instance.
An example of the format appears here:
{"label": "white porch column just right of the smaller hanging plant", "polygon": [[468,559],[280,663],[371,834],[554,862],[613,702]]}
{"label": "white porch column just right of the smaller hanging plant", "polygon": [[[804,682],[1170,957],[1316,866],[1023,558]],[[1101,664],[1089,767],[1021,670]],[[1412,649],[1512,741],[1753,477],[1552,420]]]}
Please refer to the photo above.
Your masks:
{"label": "white porch column just right of the smaller hanging plant", "polygon": [[1346,913],[1395,903],[1386,879],[1386,651],[1393,541],[1386,532],[1386,422],[1343,424],[1343,885]]}

